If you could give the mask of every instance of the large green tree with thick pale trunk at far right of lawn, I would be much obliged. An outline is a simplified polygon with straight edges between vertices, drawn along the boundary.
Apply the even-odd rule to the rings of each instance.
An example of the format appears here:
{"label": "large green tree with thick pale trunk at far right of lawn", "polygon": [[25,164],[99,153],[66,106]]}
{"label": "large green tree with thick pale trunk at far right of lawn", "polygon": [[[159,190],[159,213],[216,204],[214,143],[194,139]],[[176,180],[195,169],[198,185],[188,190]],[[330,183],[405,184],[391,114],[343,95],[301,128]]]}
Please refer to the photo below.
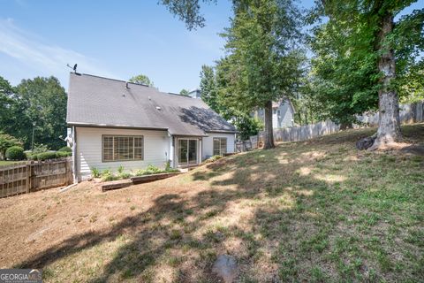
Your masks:
{"label": "large green tree with thick pale trunk at far right of lawn", "polygon": [[[322,1],[317,7],[317,11],[329,17],[329,21],[319,27],[317,37],[318,50],[329,54],[329,57],[318,57],[327,61],[318,63],[321,68],[318,85],[329,97],[334,97],[333,106],[345,104],[341,109],[356,108],[348,115],[361,108],[372,108],[378,99],[380,119],[372,149],[402,138],[398,113],[401,80],[397,78],[396,65],[401,77],[423,50],[424,10],[413,11],[397,23],[394,17],[412,2],[348,0],[340,4],[331,0]],[[329,44],[320,43],[325,38]],[[329,77],[324,70],[329,71]],[[354,81],[349,83],[346,80],[351,74]],[[340,96],[337,89],[341,90]]]}

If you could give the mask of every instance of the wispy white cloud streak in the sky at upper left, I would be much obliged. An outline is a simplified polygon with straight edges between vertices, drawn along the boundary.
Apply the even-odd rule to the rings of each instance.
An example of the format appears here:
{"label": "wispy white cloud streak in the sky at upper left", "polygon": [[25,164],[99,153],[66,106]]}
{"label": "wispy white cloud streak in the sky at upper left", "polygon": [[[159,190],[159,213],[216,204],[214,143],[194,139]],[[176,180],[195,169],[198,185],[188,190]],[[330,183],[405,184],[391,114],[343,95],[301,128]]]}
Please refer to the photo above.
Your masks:
{"label": "wispy white cloud streak in the sky at upper left", "polygon": [[[95,59],[70,49],[45,43],[36,34],[30,34],[16,27],[13,19],[0,19],[0,52],[19,61],[25,66],[21,70],[20,78],[7,78],[19,81],[29,79],[28,74],[54,75],[67,87],[68,73],[71,69],[66,65],[79,65],[81,73],[92,73],[107,77],[115,77],[112,73],[102,68]],[[7,76],[7,66],[0,65],[0,72]],[[16,76],[16,74],[14,74]]]}

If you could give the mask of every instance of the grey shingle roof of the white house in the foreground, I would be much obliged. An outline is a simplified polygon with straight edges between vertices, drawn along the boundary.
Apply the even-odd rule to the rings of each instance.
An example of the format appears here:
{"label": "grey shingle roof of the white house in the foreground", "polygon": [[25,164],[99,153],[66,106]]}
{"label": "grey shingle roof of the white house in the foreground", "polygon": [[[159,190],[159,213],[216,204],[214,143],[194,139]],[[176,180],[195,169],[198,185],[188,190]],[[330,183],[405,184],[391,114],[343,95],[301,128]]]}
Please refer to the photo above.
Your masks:
{"label": "grey shingle roof of the white house in the foreground", "polygon": [[163,129],[173,135],[236,133],[234,126],[201,99],[79,73],[71,73],[66,122],[73,126]]}

